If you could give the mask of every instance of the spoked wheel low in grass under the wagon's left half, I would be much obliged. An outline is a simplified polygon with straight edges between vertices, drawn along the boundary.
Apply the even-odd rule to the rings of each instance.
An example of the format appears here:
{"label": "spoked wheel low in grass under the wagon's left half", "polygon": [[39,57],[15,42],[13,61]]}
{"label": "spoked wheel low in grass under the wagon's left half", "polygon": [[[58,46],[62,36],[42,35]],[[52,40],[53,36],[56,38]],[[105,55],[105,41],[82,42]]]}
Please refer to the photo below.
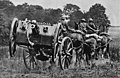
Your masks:
{"label": "spoked wheel low in grass under the wagon's left half", "polygon": [[38,69],[38,60],[36,59],[36,54],[33,49],[23,51],[23,60],[28,70]]}

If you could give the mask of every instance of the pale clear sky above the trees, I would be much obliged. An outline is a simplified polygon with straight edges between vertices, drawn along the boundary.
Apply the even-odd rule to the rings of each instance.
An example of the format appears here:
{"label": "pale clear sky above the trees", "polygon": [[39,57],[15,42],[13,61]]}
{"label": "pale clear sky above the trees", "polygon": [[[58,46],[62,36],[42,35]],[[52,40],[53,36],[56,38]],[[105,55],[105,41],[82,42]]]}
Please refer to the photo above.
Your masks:
{"label": "pale clear sky above the trees", "polygon": [[106,8],[106,14],[111,21],[111,25],[120,26],[120,0],[10,0],[15,5],[28,3],[40,5],[43,8],[61,8],[66,4],[74,4],[81,8],[82,11],[88,11],[95,3],[100,3]]}

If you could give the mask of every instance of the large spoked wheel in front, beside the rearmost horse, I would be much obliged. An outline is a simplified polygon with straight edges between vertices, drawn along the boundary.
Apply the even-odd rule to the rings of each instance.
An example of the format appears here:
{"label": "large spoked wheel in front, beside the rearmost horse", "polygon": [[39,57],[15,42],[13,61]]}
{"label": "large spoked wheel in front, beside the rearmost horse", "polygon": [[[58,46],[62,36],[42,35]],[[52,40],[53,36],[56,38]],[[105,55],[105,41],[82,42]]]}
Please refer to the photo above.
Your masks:
{"label": "large spoked wheel in front, beside the rearmost horse", "polygon": [[58,53],[59,55],[59,63],[61,69],[69,68],[72,60],[72,53],[73,53],[73,43],[69,37],[65,37],[62,40],[61,50]]}

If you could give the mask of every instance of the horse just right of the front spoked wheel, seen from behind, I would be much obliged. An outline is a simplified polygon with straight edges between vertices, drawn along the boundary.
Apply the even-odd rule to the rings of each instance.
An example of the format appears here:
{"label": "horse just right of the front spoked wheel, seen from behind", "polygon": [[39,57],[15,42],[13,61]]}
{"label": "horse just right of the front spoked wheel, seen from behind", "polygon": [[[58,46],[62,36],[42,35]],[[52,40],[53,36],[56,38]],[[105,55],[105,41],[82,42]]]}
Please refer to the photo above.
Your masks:
{"label": "horse just right of the front spoked wheel, seen from behind", "polygon": [[76,65],[80,65],[81,59],[83,58],[83,43],[84,43],[84,32],[78,30],[78,23],[74,22],[75,24],[75,32],[69,33],[69,37],[73,41],[74,52],[76,53]]}

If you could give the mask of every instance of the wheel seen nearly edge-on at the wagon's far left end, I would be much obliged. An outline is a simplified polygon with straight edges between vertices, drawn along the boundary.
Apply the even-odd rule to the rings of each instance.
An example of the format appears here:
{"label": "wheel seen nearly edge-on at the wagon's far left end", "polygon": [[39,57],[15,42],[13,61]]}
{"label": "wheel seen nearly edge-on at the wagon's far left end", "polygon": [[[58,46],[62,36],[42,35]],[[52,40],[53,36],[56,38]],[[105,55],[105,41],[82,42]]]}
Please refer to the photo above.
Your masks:
{"label": "wheel seen nearly edge-on at the wagon's far left end", "polygon": [[9,53],[12,57],[16,51],[16,31],[17,31],[17,25],[18,25],[18,19],[14,18],[11,24],[11,30],[10,30],[10,41],[9,41]]}

